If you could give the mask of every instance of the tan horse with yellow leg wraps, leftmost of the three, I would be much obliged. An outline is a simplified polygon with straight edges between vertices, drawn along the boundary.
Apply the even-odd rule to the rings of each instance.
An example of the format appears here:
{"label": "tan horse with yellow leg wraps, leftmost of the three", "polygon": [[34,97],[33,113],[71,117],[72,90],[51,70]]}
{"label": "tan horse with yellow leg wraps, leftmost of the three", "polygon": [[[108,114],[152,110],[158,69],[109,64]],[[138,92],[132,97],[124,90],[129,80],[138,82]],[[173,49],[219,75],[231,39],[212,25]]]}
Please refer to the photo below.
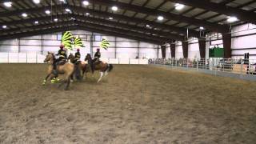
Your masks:
{"label": "tan horse with yellow leg wraps, leftmost of the three", "polygon": [[[47,79],[50,78],[54,78],[55,74],[53,74],[53,69],[54,69],[54,61],[55,61],[55,57],[53,53],[49,53],[46,55],[46,59],[44,60],[44,62],[49,62],[50,65],[48,66],[48,71],[47,71],[47,76],[46,79],[44,80],[44,84],[46,83]],[[70,78],[72,76],[72,74],[74,73],[74,64],[73,63],[69,63],[66,62],[64,65],[62,66],[57,66],[57,71],[58,74],[64,74],[64,81],[62,82],[62,84],[64,82],[66,82],[66,87],[65,90],[67,90],[70,86]],[[62,85],[60,84],[60,86]]]}

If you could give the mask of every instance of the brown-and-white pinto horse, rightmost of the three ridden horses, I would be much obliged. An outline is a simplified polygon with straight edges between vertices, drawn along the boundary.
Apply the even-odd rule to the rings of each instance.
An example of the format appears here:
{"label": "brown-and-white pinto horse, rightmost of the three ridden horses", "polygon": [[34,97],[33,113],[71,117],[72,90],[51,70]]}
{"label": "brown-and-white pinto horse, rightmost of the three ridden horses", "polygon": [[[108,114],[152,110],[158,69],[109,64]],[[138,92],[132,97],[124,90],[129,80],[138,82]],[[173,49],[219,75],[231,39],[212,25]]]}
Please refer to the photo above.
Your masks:
{"label": "brown-and-white pinto horse, rightmost of the three ridden horses", "polygon": [[[92,60],[90,54],[86,55],[85,60],[88,61],[89,65],[92,65],[93,60]],[[108,72],[110,72],[113,69],[113,65],[108,64],[106,62],[102,62],[102,61],[96,62],[94,65],[95,65],[94,70],[99,70],[100,74],[101,74],[100,78],[98,78],[98,82],[100,82],[102,80],[103,76],[106,76],[108,74]]]}

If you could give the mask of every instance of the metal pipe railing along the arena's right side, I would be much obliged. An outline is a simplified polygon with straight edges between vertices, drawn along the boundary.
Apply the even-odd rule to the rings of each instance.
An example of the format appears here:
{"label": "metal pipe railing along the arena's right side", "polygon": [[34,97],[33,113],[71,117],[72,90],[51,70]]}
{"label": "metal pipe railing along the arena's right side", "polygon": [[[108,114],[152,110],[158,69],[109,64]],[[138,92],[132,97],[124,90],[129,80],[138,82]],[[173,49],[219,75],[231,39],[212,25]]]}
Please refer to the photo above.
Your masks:
{"label": "metal pipe railing along the arena's right side", "polygon": [[170,67],[182,67],[194,70],[214,70],[234,74],[250,74],[256,76],[256,59],[232,59],[232,58],[155,58],[149,59],[149,64],[167,65]]}

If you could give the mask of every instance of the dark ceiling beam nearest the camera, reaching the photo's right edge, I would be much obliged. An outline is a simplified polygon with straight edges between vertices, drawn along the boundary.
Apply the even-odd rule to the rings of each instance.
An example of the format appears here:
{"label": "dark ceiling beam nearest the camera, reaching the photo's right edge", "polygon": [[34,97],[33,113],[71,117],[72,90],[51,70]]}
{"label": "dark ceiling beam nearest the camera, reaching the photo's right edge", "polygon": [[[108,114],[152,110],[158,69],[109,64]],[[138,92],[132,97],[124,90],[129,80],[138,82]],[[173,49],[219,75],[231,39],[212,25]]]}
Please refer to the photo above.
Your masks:
{"label": "dark ceiling beam nearest the camera, reaching the photo's right edge", "polygon": [[211,10],[217,13],[226,14],[227,16],[236,16],[238,19],[244,22],[250,22],[256,24],[255,13],[250,11],[238,9],[208,0],[169,0],[170,2],[182,3],[186,6],[194,6],[205,10]]}

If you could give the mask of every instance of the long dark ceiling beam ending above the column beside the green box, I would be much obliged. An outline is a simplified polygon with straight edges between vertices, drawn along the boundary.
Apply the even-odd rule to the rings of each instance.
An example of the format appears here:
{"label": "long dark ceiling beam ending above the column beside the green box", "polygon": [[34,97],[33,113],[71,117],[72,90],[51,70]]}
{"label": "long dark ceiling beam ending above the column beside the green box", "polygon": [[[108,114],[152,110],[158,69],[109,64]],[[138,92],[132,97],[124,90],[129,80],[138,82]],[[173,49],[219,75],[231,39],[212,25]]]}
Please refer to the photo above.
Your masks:
{"label": "long dark ceiling beam ending above the column beside the green box", "polygon": [[90,0],[90,2],[99,4],[99,5],[104,5],[104,6],[118,6],[120,9],[123,9],[123,10],[131,10],[138,13],[150,14],[156,17],[158,15],[162,15],[166,19],[171,19],[178,22],[186,22],[194,26],[204,26],[206,29],[209,29],[215,32],[226,33],[229,30],[228,26],[222,26],[222,25],[218,25],[212,22],[206,22],[196,18],[189,18],[186,16],[178,15],[178,14],[172,14],[169,12],[154,10],[154,9],[150,9],[142,6],[136,6],[136,5],[127,4],[124,2],[106,1],[106,0]]}

